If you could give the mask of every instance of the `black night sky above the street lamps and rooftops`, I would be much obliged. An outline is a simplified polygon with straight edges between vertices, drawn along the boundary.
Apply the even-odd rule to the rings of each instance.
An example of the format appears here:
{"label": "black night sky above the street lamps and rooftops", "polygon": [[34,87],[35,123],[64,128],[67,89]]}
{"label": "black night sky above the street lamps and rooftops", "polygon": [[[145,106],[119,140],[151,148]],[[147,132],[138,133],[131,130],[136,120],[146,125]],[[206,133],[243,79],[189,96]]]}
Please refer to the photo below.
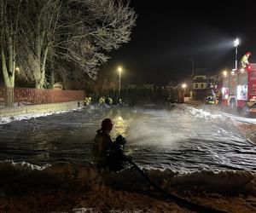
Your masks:
{"label": "black night sky above the street lamps and rooftops", "polygon": [[256,3],[204,2],[131,0],[138,15],[131,41],[111,53],[102,71],[115,75],[121,65],[125,83],[178,83],[191,73],[190,56],[195,69],[235,68],[236,37],[241,41],[238,62],[251,51],[249,61],[256,63]]}

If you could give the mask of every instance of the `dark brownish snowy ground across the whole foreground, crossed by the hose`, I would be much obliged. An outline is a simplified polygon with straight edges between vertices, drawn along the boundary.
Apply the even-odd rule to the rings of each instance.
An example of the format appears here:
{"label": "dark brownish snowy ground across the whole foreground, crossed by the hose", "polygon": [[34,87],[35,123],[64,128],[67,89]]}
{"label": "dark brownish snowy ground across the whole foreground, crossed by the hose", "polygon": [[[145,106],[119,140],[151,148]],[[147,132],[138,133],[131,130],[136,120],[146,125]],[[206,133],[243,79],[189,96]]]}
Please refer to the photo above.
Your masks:
{"label": "dark brownish snowy ground across the whole foreground, crossed by the hose", "polygon": [[[130,168],[118,173],[92,165],[54,164],[44,170],[0,164],[0,212],[196,212],[154,191]],[[143,170],[174,197],[224,212],[256,211],[256,175],[248,171]],[[207,211],[206,211],[207,212]]]}

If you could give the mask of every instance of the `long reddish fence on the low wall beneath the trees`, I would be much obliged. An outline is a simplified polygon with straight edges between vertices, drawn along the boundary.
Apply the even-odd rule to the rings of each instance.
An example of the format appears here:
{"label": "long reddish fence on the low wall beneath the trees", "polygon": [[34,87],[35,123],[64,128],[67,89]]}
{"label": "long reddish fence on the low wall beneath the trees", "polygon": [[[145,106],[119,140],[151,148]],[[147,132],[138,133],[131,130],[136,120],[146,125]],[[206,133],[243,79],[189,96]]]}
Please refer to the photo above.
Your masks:
{"label": "long reddish fence on the low wall beneath the trees", "polygon": [[84,100],[84,91],[0,87],[0,108]]}

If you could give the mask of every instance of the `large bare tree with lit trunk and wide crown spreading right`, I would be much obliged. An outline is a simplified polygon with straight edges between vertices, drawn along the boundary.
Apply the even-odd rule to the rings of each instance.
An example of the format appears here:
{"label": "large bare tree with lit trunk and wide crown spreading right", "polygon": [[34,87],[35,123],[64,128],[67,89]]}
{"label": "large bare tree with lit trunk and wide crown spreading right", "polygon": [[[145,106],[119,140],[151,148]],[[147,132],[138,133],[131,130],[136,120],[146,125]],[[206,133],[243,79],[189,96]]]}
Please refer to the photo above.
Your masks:
{"label": "large bare tree with lit trunk and wide crown spreading right", "polygon": [[[64,61],[73,69],[67,78],[83,72],[95,79],[108,52],[130,40],[136,14],[129,3],[117,0],[24,0],[26,22],[23,74],[42,88],[49,60]],[[55,72],[62,72],[56,69]],[[81,77],[81,75],[78,75]]]}

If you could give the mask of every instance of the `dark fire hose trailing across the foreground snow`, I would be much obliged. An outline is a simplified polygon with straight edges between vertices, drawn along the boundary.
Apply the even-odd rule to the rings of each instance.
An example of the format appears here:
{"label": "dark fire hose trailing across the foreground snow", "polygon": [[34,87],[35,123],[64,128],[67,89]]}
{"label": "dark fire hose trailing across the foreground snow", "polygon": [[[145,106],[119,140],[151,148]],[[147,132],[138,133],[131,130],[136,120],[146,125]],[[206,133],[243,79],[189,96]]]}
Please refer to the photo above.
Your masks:
{"label": "dark fire hose trailing across the foreground snow", "polygon": [[181,207],[186,207],[189,210],[195,210],[197,212],[207,212],[207,213],[227,213],[228,211],[225,210],[216,210],[213,209],[210,206],[206,206],[206,205],[202,205],[202,204],[196,204],[188,199],[183,199],[179,196],[177,196],[176,194],[173,193],[169,193],[166,190],[164,190],[163,188],[159,187],[157,184],[154,183],[154,181],[151,181],[149,179],[149,177],[143,172],[143,170],[141,170],[137,164],[133,163],[130,159],[127,160],[129,162],[129,164],[131,164],[142,176],[143,178],[148,181],[148,183],[154,187],[154,190],[162,193],[163,195],[165,195],[166,199],[171,199],[174,203],[178,204]]}

